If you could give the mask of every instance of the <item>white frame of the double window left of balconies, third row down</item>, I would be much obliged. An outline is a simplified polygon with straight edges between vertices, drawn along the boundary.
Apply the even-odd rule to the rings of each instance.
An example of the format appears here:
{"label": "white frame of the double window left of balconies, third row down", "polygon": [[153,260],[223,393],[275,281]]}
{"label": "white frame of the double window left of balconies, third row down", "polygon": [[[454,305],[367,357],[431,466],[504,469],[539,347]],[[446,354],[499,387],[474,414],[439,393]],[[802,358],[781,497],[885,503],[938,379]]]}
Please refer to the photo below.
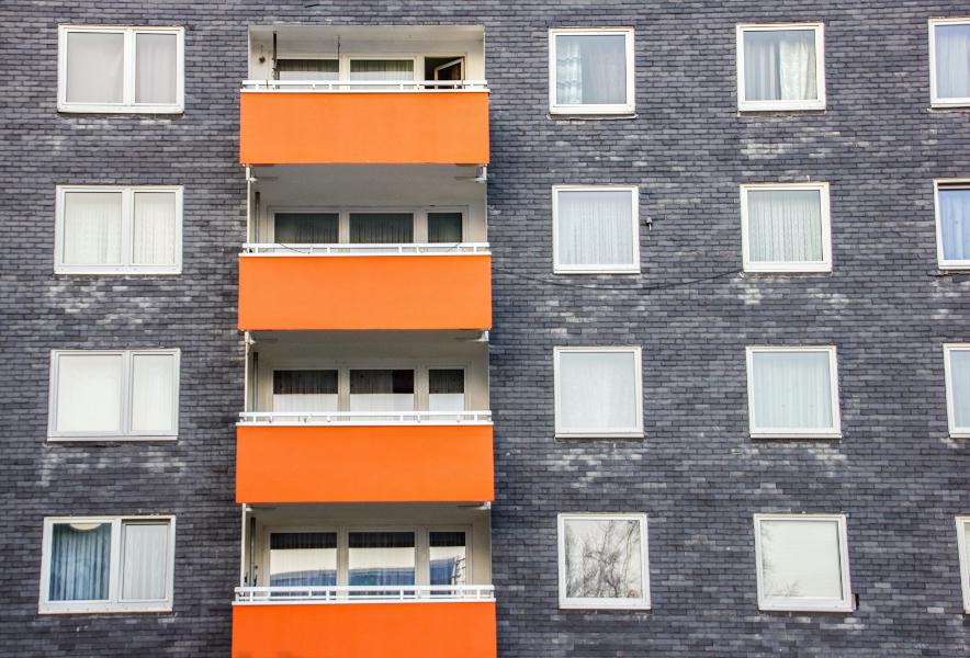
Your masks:
{"label": "white frame of the double window left of balconies, third row down", "polygon": [[[57,383],[61,355],[97,355],[122,358],[121,429],[113,432],[66,432],[57,430]],[[172,424],[171,430],[156,432],[132,431],[132,389],[134,387],[134,358],[145,355],[172,356]],[[173,350],[52,350],[50,351],[50,394],[47,411],[48,441],[174,441],[179,435],[179,388],[181,373],[181,351]]]}

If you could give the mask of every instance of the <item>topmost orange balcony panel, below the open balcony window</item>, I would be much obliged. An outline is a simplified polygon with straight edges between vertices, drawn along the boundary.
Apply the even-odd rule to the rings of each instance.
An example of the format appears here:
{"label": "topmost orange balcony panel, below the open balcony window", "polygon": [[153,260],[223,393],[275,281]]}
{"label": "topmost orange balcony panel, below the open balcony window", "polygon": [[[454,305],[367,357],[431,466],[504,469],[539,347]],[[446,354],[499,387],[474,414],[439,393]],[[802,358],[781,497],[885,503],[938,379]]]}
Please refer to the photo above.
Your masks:
{"label": "topmost orange balcony panel, below the open balcony window", "polygon": [[244,164],[487,164],[488,92],[243,92]]}

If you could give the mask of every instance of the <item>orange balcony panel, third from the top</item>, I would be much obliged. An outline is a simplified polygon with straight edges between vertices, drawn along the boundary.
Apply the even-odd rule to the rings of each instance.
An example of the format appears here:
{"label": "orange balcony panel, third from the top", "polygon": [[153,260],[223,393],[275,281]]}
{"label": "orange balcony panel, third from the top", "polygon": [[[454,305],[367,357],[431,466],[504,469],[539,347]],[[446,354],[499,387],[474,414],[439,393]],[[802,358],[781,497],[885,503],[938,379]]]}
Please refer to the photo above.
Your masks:
{"label": "orange balcony panel, third from the top", "polygon": [[494,498],[492,426],[240,426],[238,502]]}

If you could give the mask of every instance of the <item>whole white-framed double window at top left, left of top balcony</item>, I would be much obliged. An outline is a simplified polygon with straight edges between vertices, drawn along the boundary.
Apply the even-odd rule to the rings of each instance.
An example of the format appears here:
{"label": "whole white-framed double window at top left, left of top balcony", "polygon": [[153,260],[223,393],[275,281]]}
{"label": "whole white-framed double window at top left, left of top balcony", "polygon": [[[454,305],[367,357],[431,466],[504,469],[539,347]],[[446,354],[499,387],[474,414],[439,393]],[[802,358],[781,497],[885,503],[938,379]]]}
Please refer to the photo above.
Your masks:
{"label": "whole white-framed double window at top left, left of top balcony", "polygon": [[57,109],[182,112],[183,39],[182,27],[61,25]]}

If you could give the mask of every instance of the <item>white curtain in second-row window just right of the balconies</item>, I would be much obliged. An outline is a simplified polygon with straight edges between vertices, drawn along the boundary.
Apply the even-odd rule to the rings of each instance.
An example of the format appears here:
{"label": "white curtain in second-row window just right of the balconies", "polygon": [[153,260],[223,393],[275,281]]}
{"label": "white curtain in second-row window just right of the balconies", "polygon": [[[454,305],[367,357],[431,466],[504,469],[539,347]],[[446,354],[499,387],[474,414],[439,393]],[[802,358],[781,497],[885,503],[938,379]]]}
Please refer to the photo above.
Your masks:
{"label": "white curtain in second-row window just right of the balconies", "polygon": [[562,191],[557,194],[560,264],[634,264],[630,192]]}

